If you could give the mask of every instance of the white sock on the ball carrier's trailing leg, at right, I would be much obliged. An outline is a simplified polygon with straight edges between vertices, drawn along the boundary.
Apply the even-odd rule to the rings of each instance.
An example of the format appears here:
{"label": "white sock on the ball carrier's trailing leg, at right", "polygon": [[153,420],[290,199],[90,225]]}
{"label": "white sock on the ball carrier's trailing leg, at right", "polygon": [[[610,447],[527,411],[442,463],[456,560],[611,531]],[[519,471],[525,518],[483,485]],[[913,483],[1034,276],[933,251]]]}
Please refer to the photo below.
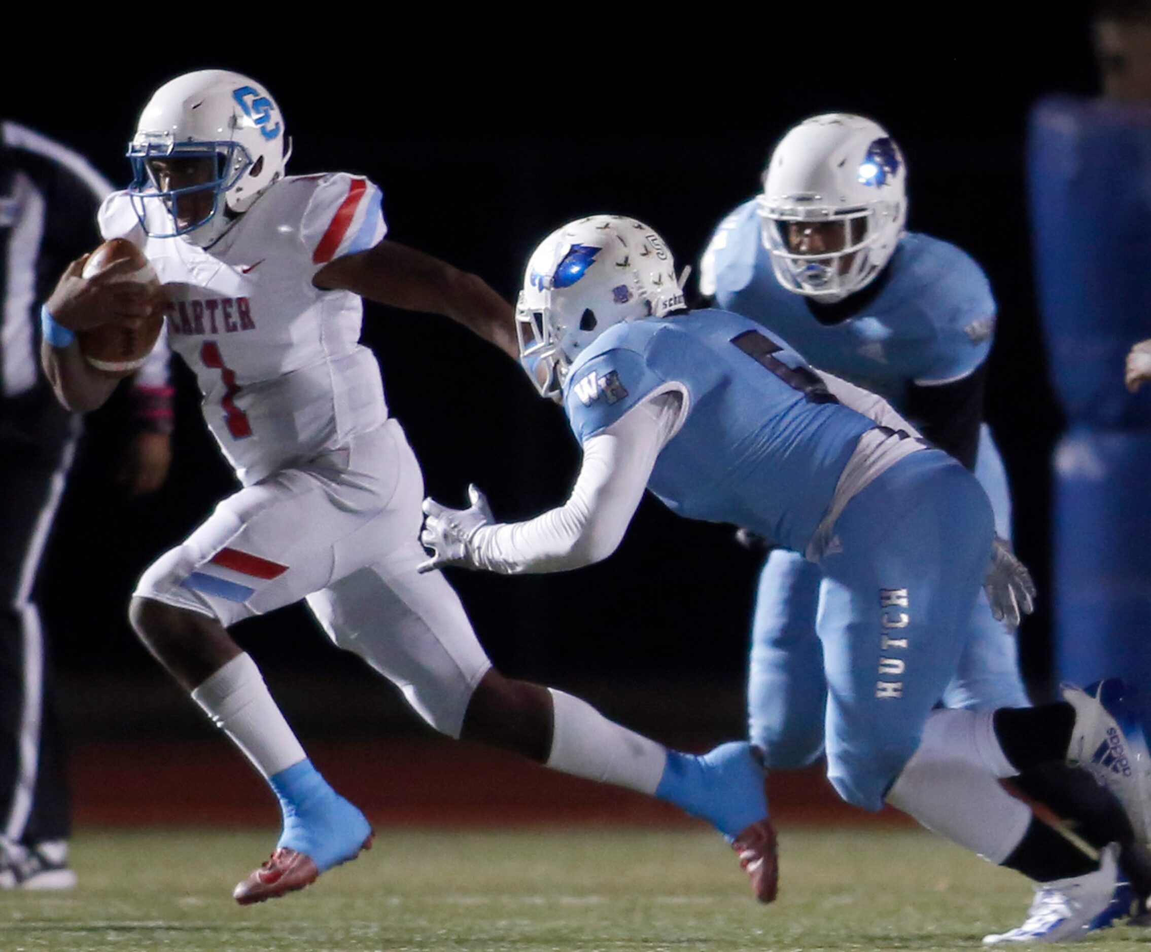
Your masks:
{"label": "white sock on the ball carrier's trailing leg, at right", "polygon": [[655,793],[668,750],[609,721],[587,701],[549,688],[555,728],[547,766],[577,777]]}

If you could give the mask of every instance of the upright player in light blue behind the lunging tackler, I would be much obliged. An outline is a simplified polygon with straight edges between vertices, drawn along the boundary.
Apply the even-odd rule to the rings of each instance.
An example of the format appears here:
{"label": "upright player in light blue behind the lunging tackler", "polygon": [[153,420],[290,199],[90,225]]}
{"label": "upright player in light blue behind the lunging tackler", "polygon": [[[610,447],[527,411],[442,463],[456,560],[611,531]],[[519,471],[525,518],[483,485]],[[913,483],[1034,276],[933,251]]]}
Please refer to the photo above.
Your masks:
{"label": "upright player in light blue behind the lunging tackler", "polygon": [[[967,254],[906,230],[906,184],[904,155],[877,123],[843,113],[805,120],[772,151],[761,194],[716,230],[701,261],[700,291],[779,335],[821,370],[886,399],[975,475],[991,501],[997,545],[1006,546],[1007,478],[983,421],[996,301]],[[769,769],[803,767],[823,751],[826,688],[816,616],[833,602],[821,600],[822,583],[820,566],[782,547],[760,576],[748,724]],[[967,647],[942,696],[945,707],[1030,703],[1014,621],[997,620],[980,594]],[[1014,783],[1074,820],[1095,849],[1121,838],[1119,805],[1085,771],[1046,763]],[[1019,850],[1042,869],[1049,837],[1038,837],[1024,838]],[[1151,890],[1148,857],[1123,859]]]}

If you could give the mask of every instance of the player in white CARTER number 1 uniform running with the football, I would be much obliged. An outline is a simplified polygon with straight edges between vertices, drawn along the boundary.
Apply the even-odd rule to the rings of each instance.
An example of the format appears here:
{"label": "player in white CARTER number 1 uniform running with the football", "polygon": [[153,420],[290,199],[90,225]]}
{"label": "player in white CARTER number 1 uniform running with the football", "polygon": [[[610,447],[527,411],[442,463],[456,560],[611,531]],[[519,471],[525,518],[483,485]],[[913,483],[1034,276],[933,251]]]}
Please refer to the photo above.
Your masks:
{"label": "player in white CARTER number 1 uniform running with the football", "polygon": [[708,819],[741,860],[752,850],[753,884],[773,896],[763,773],[748,744],[669,752],[570,694],[503,677],[443,576],[417,571],[422,477],[388,415],[376,360],[357,343],[361,297],[447,315],[514,356],[508,302],[386,240],[368,179],[285,177],[283,115],[249,77],[203,70],[166,83],[129,154],[134,183],[101,207],[101,232],[144,249],[167,300],[113,284],[116,266],[84,281],[76,261],[47,304],[43,358],[67,406],[98,406],[109,387],[70,335],[165,306],[171,348],[196,373],[206,422],[242,484],[144,573],[130,609],[144,644],[280,799],[282,836],[235,898],[300,889],[372,839],[227,630],[300,599],[437,730]]}

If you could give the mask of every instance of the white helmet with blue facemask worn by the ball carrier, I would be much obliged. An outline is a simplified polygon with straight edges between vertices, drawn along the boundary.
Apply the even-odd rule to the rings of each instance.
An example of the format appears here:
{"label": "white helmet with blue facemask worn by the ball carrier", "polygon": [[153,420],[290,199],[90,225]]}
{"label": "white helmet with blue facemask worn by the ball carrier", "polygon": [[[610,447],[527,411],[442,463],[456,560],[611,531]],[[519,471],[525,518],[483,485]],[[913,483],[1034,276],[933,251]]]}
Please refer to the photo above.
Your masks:
{"label": "white helmet with blue facemask worn by the ball carrier", "polygon": [[[140,113],[128,146],[132,163],[128,193],[148,235],[178,235],[192,245],[209,247],[283,176],[290,154],[280,107],[264,86],[222,69],[188,72],[160,86]],[[165,160],[201,160],[211,171],[199,176],[206,181],[166,186],[157,174]],[[181,197],[204,191],[212,193],[211,207],[205,204],[205,214],[180,222]],[[154,216],[150,224],[146,213],[154,201],[162,202],[167,214]],[[168,221],[170,230],[157,231],[159,220]]]}

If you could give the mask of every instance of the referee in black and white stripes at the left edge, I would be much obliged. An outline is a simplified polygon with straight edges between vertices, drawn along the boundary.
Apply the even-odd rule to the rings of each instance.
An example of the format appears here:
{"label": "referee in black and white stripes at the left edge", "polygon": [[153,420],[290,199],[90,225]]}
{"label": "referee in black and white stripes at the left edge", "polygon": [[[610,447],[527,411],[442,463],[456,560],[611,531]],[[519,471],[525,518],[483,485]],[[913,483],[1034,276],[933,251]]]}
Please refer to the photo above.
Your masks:
{"label": "referee in black and white stripes at the left edge", "polygon": [[[40,373],[40,302],[99,239],[112,186],[81,155],[0,123],[0,889],[68,889],[71,804],[64,743],[35,590],[81,432]],[[165,348],[134,378],[130,492],[163,482],[170,459]]]}

